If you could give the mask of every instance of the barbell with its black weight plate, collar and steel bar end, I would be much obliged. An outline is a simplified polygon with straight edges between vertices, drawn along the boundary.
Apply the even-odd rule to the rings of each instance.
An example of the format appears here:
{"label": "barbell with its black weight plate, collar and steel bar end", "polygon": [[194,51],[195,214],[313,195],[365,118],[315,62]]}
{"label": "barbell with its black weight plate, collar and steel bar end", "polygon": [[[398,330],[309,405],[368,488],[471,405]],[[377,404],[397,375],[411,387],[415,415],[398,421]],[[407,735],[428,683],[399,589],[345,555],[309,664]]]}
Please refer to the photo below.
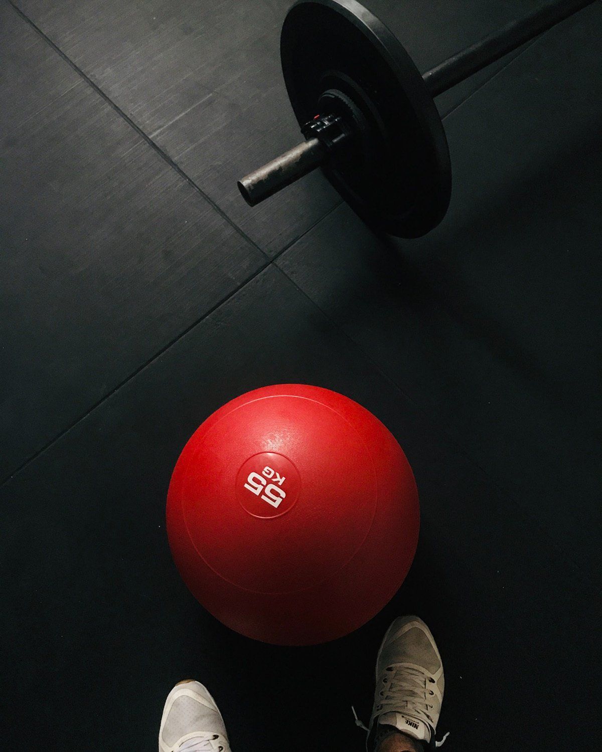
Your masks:
{"label": "barbell with its black weight plate, collar and steel bar end", "polygon": [[433,97],[594,0],[562,0],[444,60],[424,75],[356,0],[298,0],[282,26],[284,84],[305,141],[238,186],[256,206],[318,167],[373,229],[418,238],[451,196],[445,130]]}

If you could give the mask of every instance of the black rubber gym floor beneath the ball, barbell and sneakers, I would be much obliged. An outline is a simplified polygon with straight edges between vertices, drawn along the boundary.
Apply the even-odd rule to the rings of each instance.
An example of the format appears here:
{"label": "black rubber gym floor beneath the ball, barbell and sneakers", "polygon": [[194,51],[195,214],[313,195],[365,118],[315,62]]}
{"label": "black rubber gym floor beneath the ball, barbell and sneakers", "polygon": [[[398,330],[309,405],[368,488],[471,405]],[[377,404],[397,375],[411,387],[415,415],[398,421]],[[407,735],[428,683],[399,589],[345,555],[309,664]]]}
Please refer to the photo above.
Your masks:
{"label": "black rubber gym floor beneath the ball, barbell and sneakers", "polygon": [[[377,238],[320,174],[239,196],[299,141],[289,5],[0,0],[3,746],[156,749],[192,677],[235,752],[360,750],[351,705],[369,718],[375,650],[413,612],[444,748],[594,748],[602,5],[437,103],[454,191],[418,241]],[[366,5],[421,70],[525,11]],[[311,648],[205,613],[164,527],[196,426],[286,382],[374,412],[421,493],[393,602]]]}

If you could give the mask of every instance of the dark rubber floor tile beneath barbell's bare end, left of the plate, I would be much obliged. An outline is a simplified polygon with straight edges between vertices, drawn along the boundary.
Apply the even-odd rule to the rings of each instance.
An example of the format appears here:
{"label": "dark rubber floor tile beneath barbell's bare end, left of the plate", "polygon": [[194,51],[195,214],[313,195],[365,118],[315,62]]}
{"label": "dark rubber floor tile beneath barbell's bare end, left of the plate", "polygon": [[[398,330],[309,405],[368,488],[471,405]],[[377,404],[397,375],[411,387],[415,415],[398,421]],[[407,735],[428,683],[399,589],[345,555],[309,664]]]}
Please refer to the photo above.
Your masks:
{"label": "dark rubber floor tile beneath barbell's bare end, left of the plate", "polygon": [[279,62],[287,0],[18,5],[266,253],[339,202],[319,175],[253,210],[236,186],[301,140]]}

